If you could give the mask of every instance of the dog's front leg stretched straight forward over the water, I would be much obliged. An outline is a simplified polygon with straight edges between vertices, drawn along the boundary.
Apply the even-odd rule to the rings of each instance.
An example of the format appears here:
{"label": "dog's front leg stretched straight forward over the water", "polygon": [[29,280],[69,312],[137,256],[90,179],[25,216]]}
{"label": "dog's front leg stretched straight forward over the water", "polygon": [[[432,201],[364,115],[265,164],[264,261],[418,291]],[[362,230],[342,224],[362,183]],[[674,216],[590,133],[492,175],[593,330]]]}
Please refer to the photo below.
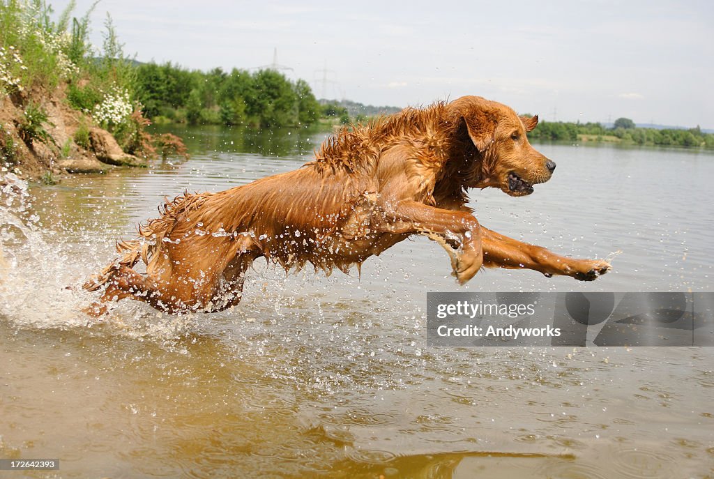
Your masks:
{"label": "dog's front leg stretched straight forward over the water", "polygon": [[528,268],[545,276],[572,276],[580,281],[593,281],[610,271],[604,260],[566,258],[542,246],[533,246],[481,227],[483,261],[488,268]]}

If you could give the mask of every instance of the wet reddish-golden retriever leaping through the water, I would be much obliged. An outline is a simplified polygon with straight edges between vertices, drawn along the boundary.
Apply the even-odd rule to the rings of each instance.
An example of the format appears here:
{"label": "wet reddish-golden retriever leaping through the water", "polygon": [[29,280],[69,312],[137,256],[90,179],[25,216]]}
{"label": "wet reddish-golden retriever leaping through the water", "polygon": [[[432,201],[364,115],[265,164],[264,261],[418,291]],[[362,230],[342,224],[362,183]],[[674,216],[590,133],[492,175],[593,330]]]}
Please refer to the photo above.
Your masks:
{"label": "wet reddish-golden retriever leaping through the water", "polygon": [[[482,267],[528,268],[592,281],[603,260],[558,256],[481,226],[466,206],[468,188],[533,193],[555,163],[528,143],[538,116],[478,96],[407,108],[341,129],[302,168],[219,193],[184,193],[119,241],[121,256],[84,284],[106,287],[87,311],[134,298],[169,313],[213,312],[241,301],[256,258],[283,268],[351,266],[408,236],[446,249],[463,284]],[[146,274],[132,269],[141,260]]]}

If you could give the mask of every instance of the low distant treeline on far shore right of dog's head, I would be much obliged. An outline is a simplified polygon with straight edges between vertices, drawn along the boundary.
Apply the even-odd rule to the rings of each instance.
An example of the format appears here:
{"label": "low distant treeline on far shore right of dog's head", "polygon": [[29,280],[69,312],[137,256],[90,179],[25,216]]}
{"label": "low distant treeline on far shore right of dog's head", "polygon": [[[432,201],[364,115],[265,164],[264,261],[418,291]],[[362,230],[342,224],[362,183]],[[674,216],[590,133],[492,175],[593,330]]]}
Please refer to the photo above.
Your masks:
{"label": "low distant treeline on far shore right of dog's head", "polygon": [[714,148],[714,134],[703,133],[697,126],[690,129],[637,128],[629,119],[618,119],[613,128],[600,123],[567,123],[540,121],[528,138],[555,141],[605,141],[636,145],[685,146]]}

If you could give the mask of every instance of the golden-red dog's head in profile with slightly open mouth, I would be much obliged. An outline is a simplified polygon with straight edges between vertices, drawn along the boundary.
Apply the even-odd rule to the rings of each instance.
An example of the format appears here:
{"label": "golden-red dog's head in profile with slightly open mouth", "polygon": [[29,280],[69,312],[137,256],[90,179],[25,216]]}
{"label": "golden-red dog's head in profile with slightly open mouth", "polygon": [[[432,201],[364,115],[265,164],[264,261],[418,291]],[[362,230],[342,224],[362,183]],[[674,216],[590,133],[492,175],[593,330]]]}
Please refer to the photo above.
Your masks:
{"label": "golden-red dog's head in profile with slightly open mouth", "polygon": [[[533,185],[550,179],[555,163],[535,151],[526,133],[538,124],[538,116],[518,116],[508,106],[480,96],[462,96],[448,104],[453,121],[468,131],[481,153],[478,174],[469,188],[492,186],[511,196],[533,193]],[[471,184],[473,183],[473,184]]]}

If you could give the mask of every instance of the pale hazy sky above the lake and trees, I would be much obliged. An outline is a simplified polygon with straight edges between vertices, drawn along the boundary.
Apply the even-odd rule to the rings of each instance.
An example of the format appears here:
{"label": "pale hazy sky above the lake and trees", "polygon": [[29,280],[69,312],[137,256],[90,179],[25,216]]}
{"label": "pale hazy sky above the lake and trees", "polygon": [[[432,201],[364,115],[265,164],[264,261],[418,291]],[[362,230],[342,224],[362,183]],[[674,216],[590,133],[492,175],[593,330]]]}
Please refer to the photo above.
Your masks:
{"label": "pale hazy sky above the lake and trees", "polygon": [[[91,3],[76,0],[77,16]],[[546,121],[714,128],[708,0],[101,0],[97,46],[107,12],[139,61],[229,71],[269,66],[277,51],[318,98],[403,107],[478,95]]]}

